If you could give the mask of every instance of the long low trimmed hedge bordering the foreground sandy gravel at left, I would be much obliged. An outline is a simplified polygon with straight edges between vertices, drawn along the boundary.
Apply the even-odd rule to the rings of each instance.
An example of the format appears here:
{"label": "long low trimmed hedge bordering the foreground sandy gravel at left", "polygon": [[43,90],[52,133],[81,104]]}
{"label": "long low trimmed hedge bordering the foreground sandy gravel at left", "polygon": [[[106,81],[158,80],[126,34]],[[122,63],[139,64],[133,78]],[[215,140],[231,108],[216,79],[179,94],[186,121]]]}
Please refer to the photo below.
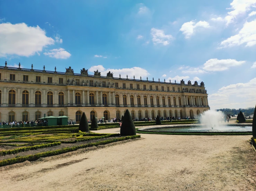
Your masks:
{"label": "long low trimmed hedge bordering the foreground sandy gravel at left", "polygon": [[13,159],[6,159],[6,160],[0,161],[0,166],[6,166],[6,165],[10,165],[10,164],[25,162],[25,161],[35,161],[41,157],[59,155],[59,154],[68,153],[71,151],[76,151],[78,149],[83,149],[83,148],[87,148],[87,147],[91,147],[91,146],[105,145],[105,144],[109,144],[109,143],[113,143],[113,142],[118,142],[118,141],[123,141],[123,140],[128,140],[128,139],[135,139],[135,138],[140,138],[140,135],[120,137],[117,139],[98,141],[96,143],[88,143],[85,145],[65,147],[63,149],[59,149],[59,150],[55,150],[55,151],[47,151],[47,152],[43,152],[43,153],[37,153],[34,155],[27,155],[27,156],[21,156],[21,157],[17,157],[17,158],[13,158]]}

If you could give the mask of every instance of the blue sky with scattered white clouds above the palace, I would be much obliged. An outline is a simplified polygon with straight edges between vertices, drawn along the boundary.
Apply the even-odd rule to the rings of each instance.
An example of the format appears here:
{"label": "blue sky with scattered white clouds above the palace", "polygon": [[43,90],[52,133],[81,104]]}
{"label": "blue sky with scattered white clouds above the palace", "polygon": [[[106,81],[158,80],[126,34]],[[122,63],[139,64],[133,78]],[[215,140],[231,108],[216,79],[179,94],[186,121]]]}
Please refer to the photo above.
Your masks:
{"label": "blue sky with scattered white clouds above the palace", "polygon": [[0,66],[204,82],[211,109],[256,104],[256,0],[0,0]]}

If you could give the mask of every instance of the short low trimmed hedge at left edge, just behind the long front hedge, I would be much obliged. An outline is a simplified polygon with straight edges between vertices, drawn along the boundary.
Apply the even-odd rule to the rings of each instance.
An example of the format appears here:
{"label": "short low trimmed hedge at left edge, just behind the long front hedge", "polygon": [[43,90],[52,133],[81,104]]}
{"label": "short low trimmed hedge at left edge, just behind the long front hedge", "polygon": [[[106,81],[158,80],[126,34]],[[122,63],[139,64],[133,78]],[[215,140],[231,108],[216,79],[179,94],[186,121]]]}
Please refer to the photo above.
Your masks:
{"label": "short low trimmed hedge at left edge, just behind the long front hedge", "polygon": [[0,156],[5,156],[8,154],[16,154],[19,152],[24,152],[24,151],[29,151],[29,150],[36,150],[36,149],[41,149],[41,148],[50,147],[50,146],[56,146],[56,145],[60,145],[60,144],[61,144],[61,142],[54,142],[54,143],[34,145],[34,146],[25,146],[25,147],[20,147],[20,148],[13,149],[13,150],[0,151]]}

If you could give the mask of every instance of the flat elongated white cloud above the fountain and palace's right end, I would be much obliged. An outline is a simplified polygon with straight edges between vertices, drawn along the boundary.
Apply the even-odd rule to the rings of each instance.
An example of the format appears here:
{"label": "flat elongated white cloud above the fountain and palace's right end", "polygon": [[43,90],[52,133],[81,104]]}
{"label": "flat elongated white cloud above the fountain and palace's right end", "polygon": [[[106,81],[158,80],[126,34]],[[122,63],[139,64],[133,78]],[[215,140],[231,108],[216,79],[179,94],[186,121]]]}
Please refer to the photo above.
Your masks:
{"label": "flat elongated white cloud above the fountain and palace's right end", "polygon": [[218,60],[217,58],[212,58],[204,63],[203,69],[206,71],[223,71],[229,69],[230,67],[240,66],[245,62],[246,61],[237,61],[235,59]]}

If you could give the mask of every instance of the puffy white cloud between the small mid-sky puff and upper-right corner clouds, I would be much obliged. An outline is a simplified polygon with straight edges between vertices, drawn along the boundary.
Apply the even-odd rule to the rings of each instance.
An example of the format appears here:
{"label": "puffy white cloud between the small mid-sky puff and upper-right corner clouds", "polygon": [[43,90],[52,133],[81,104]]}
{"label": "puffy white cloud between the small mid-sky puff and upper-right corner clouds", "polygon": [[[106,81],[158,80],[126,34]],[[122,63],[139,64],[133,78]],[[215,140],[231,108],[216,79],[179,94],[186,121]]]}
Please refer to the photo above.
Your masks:
{"label": "puffy white cloud between the small mid-sky puff and upper-right corner clouds", "polygon": [[197,23],[190,21],[185,22],[179,30],[182,31],[185,38],[190,38],[196,30],[209,27],[210,25],[206,21],[198,21]]}

